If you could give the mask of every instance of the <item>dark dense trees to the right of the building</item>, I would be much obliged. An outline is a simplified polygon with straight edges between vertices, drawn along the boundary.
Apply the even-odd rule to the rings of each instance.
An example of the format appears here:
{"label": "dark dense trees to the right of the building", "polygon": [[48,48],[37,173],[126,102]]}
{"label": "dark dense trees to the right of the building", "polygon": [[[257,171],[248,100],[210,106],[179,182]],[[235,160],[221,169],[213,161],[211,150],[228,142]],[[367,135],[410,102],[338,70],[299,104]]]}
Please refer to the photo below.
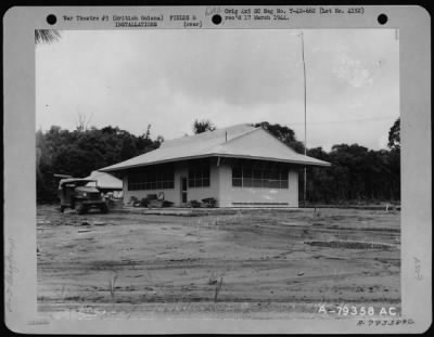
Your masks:
{"label": "dark dense trees to the right of the building", "polygon": [[[263,127],[304,154],[304,145],[288,127],[267,121]],[[337,144],[330,152],[321,147],[308,148],[307,155],[331,164],[331,167],[307,168],[307,203],[342,204],[400,200],[400,138],[399,118],[388,133],[390,150],[373,151],[358,144]],[[304,172],[299,169],[298,198],[303,205]]]}

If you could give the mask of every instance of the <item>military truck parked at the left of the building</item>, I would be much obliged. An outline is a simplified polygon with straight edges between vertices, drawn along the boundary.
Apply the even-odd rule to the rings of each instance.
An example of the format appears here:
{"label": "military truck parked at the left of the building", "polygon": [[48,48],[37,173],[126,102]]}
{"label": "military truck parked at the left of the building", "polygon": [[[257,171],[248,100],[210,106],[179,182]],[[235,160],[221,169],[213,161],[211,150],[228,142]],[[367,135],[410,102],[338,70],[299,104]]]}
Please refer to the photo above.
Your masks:
{"label": "military truck parked at the left of the building", "polygon": [[79,215],[91,208],[99,208],[103,213],[108,211],[103,194],[98,190],[97,180],[93,179],[62,179],[59,182],[59,198],[62,212],[66,208],[76,209]]}

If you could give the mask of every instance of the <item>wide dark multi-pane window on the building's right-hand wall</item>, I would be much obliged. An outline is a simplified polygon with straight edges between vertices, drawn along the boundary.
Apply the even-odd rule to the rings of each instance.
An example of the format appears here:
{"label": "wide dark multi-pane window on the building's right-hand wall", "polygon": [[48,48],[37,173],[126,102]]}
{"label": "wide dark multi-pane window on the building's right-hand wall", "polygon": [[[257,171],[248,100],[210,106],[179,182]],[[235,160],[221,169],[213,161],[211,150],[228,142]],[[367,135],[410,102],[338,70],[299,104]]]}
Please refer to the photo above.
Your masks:
{"label": "wide dark multi-pane window on the building's right-hand wall", "polygon": [[238,160],[232,166],[232,186],[289,189],[288,167],[271,161]]}

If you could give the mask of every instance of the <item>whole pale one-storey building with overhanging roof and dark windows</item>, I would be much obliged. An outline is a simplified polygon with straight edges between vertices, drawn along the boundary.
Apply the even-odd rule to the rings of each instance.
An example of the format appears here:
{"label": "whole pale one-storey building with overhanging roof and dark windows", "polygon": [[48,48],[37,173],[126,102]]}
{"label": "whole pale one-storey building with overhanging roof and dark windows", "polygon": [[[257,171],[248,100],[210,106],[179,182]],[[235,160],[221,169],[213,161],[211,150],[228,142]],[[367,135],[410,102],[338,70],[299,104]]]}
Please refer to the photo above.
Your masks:
{"label": "whole pale one-storey building with overhanging roof and dark windows", "polygon": [[297,168],[330,166],[297,154],[261,128],[239,125],[164,142],[100,171],[124,181],[124,200],[164,193],[175,206],[298,207]]}

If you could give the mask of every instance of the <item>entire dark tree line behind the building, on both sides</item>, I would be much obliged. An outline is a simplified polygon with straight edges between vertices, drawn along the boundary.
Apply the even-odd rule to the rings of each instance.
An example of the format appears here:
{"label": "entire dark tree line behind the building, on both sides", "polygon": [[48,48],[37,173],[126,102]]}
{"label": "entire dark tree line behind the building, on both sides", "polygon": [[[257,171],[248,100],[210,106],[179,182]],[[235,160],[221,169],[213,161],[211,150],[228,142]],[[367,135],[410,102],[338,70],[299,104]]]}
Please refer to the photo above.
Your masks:
{"label": "entire dark tree line behind the building, on both sides", "polygon": [[[304,145],[293,130],[285,126],[256,124],[298,153]],[[195,121],[195,133],[214,130],[208,121]],[[87,177],[92,170],[110,166],[157,148],[163,142],[152,140],[148,131],[136,137],[119,128],[86,129],[75,131],[51,127],[38,131],[37,140],[37,197],[49,202],[56,198],[58,180],[54,173]],[[358,144],[337,144],[330,152],[321,147],[308,148],[307,155],[331,163],[331,167],[307,168],[307,202],[375,203],[400,199],[400,139],[399,119],[388,134],[388,150],[373,151]],[[299,168],[299,202],[303,205],[303,168]]]}

